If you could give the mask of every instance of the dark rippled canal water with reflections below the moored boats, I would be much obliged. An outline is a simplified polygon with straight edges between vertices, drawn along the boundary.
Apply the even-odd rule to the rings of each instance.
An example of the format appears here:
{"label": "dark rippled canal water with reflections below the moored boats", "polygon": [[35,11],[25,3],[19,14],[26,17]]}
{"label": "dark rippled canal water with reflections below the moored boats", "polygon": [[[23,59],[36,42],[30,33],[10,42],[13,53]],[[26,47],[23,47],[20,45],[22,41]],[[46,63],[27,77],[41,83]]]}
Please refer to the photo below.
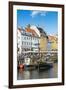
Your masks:
{"label": "dark rippled canal water with reflections below the moored boats", "polygon": [[58,64],[54,63],[53,67],[48,70],[22,70],[17,72],[17,80],[27,79],[42,79],[42,78],[57,78],[58,76]]}

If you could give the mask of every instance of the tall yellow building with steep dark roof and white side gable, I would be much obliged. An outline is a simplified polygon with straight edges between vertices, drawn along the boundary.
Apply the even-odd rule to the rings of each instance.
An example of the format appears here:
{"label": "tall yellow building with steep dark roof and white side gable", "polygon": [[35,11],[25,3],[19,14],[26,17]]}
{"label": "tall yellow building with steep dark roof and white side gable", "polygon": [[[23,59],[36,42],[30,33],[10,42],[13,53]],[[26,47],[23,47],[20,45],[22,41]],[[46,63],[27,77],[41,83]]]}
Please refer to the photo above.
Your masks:
{"label": "tall yellow building with steep dark roof and white side gable", "polygon": [[47,43],[48,43],[48,36],[46,34],[46,32],[41,28],[41,27],[37,27],[37,26],[30,26],[31,29],[33,29],[39,38],[39,50],[40,51],[46,51],[47,50]]}

